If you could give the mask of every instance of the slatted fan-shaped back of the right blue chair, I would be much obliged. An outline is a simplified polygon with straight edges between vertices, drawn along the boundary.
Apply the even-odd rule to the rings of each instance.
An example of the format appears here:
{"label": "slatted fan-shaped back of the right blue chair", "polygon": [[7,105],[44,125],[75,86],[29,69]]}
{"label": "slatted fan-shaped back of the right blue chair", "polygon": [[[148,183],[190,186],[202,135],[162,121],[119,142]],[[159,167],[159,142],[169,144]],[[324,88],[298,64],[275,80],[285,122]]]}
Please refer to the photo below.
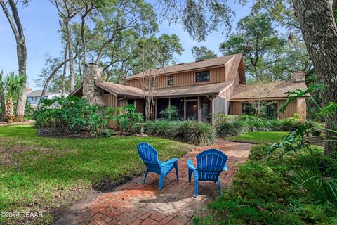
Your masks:
{"label": "slatted fan-shaped back of the right blue chair", "polygon": [[210,148],[197,155],[199,181],[217,181],[227,161],[227,155]]}

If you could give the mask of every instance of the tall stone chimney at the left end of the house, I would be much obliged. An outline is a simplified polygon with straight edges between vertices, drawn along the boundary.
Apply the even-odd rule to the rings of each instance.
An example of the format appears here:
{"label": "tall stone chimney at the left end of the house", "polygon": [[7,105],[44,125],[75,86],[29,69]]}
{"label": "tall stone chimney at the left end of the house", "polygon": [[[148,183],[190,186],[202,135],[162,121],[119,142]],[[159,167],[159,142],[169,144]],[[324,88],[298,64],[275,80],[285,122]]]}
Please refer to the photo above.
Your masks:
{"label": "tall stone chimney at the left end of the house", "polygon": [[103,82],[102,70],[95,63],[85,65],[83,75],[83,97],[90,105],[105,105],[103,90],[95,82]]}

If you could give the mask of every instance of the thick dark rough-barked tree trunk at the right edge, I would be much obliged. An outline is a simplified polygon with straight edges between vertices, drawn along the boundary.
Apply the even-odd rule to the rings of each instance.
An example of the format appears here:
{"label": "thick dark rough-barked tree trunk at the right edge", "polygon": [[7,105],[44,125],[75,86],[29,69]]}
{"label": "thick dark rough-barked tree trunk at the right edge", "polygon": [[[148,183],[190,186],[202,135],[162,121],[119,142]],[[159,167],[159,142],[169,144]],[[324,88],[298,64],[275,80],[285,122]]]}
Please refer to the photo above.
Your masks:
{"label": "thick dark rough-barked tree trunk at the right edge", "polygon": [[[324,84],[322,102],[337,102],[337,27],[329,0],[293,0],[293,7],[300,21],[305,45],[318,75],[318,81]],[[337,123],[337,112],[333,116]],[[326,128],[333,124],[326,121]],[[331,132],[327,135],[336,136]],[[325,155],[337,153],[337,143],[329,142],[325,146]]]}

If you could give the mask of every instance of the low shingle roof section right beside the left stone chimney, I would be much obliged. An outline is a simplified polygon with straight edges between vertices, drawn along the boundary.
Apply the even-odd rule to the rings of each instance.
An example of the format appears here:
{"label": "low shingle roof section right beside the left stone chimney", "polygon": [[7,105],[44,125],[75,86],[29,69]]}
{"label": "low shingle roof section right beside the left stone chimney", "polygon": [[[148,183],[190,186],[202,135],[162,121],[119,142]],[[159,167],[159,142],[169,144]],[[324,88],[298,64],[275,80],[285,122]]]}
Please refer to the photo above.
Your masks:
{"label": "low shingle roof section right beside the left stone chimney", "polygon": [[114,84],[112,82],[95,82],[95,85],[115,95],[124,95],[143,98],[144,92],[133,86],[126,86],[122,84]]}

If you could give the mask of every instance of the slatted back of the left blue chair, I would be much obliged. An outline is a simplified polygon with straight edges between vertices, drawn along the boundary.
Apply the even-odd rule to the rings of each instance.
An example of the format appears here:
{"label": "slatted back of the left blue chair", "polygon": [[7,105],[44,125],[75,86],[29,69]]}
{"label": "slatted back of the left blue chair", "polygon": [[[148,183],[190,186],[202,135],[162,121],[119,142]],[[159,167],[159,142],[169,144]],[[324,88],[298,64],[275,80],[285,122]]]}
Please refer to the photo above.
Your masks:
{"label": "slatted back of the left blue chair", "polygon": [[150,172],[161,174],[157,150],[155,150],[149,143],[146,142],[139,143],[137,150],[147,169]]}

